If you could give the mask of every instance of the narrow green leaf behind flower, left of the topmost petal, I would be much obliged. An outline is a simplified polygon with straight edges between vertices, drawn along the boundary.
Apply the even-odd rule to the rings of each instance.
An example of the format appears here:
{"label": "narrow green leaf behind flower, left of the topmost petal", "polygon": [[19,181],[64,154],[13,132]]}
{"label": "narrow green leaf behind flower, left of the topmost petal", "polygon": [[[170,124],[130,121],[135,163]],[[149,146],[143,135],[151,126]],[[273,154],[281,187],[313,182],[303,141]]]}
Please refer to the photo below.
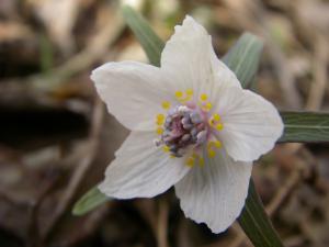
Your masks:
{"label": "narrow green leaf behind flower, left of the topmost petal", "polygon": [[[141,44],[144,50],[149,58],[150,64],[160,66],[160,54],[164,47],[164,43],[152,31],[148,22],[134,9],[128,5],[123,7],[124,18]],[[160,53],[159,53],[160,52]]]}

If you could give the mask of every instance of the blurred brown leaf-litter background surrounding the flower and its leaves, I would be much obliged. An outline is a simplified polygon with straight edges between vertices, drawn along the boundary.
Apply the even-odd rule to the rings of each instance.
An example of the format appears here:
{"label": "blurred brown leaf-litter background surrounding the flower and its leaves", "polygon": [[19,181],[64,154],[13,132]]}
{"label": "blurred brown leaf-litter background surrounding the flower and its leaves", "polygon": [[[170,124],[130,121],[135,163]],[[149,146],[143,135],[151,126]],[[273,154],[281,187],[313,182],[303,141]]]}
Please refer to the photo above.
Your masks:
{"label": "blurred brown leaf-litter background surrounding the flower and its leaves", "polygon": [[[329,1],[129,0],[163,38],[186,13],[223,56],[243,31],[265,46],[256,89],[281,110],[328,111]],[[127,135],[89,76],[147,58],[110,0],[0,0],[0,246],[242,247],[237,224],[212,234],[173,190],[71,215]],[[281,144],[253,178],[286,247],[329,246],[329,146]]]}

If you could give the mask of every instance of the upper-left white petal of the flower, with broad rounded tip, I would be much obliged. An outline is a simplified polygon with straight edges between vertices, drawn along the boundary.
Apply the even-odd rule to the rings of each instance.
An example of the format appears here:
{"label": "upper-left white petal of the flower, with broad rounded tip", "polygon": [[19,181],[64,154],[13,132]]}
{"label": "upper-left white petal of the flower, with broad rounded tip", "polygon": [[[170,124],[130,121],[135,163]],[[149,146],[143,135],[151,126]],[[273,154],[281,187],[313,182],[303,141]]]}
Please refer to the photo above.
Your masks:
{"label": "upper-left white petal of the flower, with broad rounded tip", "polygon": [[109,63],[93,70],[91,79],[109,112],[129,130],[155,130],[161,102],[173,99],[160,69],[141,63]]}

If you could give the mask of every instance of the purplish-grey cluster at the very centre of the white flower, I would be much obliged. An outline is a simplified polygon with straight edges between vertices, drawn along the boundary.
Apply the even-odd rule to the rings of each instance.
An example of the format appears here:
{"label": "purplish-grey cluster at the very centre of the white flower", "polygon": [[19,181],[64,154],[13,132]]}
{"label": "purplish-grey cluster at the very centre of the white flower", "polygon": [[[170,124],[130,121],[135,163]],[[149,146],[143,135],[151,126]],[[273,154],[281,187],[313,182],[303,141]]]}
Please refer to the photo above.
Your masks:
{"label": "purplish-grey cluster at the very centre of the white flower", "polygon": [[168,112],[161,139],[157,145],[166,145],[174,157],[182,157],[190,145],[198,146],[207,138],[206,124],[202,115],[184,105]]}

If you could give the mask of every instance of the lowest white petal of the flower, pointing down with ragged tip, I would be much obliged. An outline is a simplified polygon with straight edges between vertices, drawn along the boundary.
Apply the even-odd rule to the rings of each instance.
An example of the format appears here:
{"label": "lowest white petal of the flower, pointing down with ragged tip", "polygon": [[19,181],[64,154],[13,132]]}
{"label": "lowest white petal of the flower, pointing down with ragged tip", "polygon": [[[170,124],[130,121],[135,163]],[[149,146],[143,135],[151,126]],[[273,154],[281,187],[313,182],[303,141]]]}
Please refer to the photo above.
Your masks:
{"label": "lowest white petal of the flower, pointing down with ragged tip", "polygon": [[175,193],[186,217],[220,233],[245,205],[252,164],[236,162],[225,150],[205,161],[204,167],[194,167],[175,184]]}

